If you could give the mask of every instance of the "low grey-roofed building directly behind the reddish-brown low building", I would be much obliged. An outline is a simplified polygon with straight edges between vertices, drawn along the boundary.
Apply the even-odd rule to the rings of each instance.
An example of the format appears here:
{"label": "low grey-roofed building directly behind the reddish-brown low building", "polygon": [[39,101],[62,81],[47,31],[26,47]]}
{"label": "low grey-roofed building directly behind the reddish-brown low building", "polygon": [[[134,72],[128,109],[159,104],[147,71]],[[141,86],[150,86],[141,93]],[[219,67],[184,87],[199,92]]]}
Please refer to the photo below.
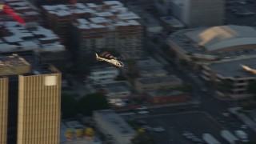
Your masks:
{"label": "low grey-roofed building directly behind the reddish-brown low building", "polygon": [[162,87],[171,88],[175,86],[182,86],[182,84],[182,80],[176,75],[152,78],[136,78],[134,79],[134,90],[136,90],[139,94],[142,94],[146,91],[154,91]]}

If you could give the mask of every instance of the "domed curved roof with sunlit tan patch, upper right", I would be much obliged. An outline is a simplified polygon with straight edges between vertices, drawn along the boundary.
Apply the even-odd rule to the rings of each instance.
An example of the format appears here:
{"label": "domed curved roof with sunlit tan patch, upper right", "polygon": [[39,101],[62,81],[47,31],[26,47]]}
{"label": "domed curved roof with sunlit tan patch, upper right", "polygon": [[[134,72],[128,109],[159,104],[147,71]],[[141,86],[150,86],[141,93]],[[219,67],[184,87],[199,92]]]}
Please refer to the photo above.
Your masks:
{"label": "domed curved roof with sunlit tan patch, upper right", "polygon": [[256,45],[256,30],[250,26],[214,26],[186,32],[185,35],[208,51],[231,46]]}

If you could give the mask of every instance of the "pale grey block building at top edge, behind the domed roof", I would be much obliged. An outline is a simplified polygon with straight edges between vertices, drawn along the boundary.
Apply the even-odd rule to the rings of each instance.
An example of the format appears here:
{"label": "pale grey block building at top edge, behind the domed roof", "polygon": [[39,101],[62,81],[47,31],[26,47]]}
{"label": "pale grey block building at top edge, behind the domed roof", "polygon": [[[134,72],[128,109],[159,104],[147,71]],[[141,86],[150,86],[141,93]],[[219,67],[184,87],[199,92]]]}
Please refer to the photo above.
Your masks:
{"label": "pale grey block building at top edge, behind the domed roof", "polygon": [[224,0],[173,0],[172,13],[189,27],[220,26],[225,17]]}

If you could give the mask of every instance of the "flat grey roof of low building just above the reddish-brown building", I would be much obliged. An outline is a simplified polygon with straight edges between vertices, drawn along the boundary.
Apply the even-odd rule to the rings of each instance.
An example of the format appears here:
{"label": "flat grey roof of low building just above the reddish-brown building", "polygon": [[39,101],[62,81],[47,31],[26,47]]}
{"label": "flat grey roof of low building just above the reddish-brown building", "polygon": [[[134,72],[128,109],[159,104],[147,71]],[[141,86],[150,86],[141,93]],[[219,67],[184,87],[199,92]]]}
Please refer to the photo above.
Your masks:
{"label": "flat grey roof of low building just above the reddish-brown building", "polygon": [[137,78],[142,84],[165,83],[165,82],[182,82],[176,75],[168,75],[163,77]]}

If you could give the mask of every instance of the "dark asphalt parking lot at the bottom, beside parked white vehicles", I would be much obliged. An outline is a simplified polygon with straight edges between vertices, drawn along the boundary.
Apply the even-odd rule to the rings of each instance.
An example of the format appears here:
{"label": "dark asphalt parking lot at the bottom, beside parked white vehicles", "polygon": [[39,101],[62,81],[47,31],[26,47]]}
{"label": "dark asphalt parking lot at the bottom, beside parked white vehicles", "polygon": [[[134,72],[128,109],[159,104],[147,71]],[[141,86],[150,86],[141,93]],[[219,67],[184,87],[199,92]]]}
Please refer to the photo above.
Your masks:
{"label": "dark asphalt parking lot at the bottom, beside parked white vehicles", "polygon": [[162,126],[165,131],[155,132],[156,143],[190,144],[194,143],[182,134],[189,131],[197,138],[202,139],[203,133],[210,133],[219,142],[226,143],[220,137],[222,126],[202,112],[185,112],[180,114],[153,115],[148,118],[139,118],[146,122],[146,126]]}

